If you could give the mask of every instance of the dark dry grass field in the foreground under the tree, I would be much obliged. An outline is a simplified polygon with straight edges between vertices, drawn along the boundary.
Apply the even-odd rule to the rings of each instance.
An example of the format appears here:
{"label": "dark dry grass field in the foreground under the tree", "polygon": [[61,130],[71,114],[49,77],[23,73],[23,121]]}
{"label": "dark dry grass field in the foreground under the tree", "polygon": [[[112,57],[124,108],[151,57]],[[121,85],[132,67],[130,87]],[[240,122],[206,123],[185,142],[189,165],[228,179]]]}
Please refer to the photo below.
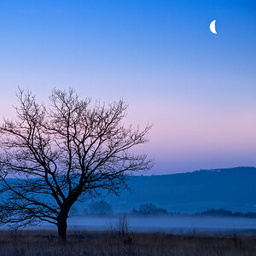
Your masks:
{"label": "dark dry grass field in the foreground under the tree", "polygon": [[254,256],[256,237],[70,231],[63,244],[53,231],[0,231],[0,255]]}

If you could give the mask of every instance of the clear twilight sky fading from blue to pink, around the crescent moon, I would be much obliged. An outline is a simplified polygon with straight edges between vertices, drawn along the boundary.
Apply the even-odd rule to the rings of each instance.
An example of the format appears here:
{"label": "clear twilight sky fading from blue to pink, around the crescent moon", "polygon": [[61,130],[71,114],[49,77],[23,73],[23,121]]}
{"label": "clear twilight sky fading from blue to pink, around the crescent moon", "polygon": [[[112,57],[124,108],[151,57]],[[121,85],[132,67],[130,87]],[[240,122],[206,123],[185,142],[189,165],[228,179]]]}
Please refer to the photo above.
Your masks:
{"label": "clear twilight sky fading from blue to pink, around the crescent moon", "polygon": [[73,87],[154,124],[148,174],[256,166],[255,32],[253,0],[0,0],[0,116]]}

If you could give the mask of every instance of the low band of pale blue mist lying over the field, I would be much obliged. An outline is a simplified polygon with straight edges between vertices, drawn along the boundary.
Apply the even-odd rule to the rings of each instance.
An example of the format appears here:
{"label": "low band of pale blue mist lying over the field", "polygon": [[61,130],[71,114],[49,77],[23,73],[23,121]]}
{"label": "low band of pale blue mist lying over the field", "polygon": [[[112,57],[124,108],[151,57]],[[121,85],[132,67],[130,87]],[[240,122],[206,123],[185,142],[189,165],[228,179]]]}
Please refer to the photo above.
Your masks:
{"label": "low band of pale blue mist lying over the field", "polygon": [[[68,230],[118,230],[119,216],[76,216],[67,221]],[[224,217],[127,217],[128,230],[138,232],[171,232],[182,233],[223,233],[256,235],[256,218],[224,218]],[[8,229],[8,226],[2,226]],[[40,226],[26,226],[25,229],[55,230],[55,225],[43,223]]]}

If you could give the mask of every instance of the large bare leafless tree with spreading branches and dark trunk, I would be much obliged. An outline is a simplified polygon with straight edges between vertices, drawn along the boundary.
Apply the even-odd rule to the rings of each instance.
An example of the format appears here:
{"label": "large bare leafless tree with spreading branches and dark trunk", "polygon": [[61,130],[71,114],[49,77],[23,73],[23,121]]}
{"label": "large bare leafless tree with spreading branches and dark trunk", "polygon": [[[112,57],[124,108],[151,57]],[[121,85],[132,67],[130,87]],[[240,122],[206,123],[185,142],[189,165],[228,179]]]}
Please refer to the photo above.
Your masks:
{"label": "large bare leafless tree with spreading branches and dark trunk", "polygon": [[17,119],[0,126],[2,223],[46,221],[66,240],[76,201],[104,190],[119,195],[131,172],[152,167],[146,154],[131,153],[148,142],[151,126],[125,127],[123,101],[91,104],[74,90],[53,90],[48,107],[30,91],[19,90],[17,98]]}

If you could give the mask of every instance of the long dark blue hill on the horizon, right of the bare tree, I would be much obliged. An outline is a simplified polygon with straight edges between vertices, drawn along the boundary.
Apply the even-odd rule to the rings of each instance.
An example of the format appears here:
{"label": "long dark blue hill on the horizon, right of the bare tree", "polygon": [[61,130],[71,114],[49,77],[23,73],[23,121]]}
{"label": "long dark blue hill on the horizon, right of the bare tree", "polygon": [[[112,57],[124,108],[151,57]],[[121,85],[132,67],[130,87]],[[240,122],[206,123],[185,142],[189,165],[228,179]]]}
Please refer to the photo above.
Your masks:
{"label": "long dark blue hill on the horizon, right of the bare tree", "polygon": [[[223,208],[256,212],[256,168],[201,170],[170,175],[133,176],[130,190],[105,200],[114,212],[131,212],[153,203],[168,212],[194,213]],[[86,204],[77,206],[79,210]]]}

